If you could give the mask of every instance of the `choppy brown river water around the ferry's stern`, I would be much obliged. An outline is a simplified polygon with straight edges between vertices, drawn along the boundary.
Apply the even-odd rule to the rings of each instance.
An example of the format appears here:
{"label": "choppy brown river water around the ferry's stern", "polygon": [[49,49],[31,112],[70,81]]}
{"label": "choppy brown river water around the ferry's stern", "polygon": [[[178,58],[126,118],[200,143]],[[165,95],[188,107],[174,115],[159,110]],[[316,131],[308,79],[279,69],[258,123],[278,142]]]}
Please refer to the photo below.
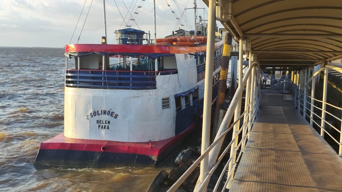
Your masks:
{"label": "choppy brown river water around the ferry's stern", "polygon": [[63,133],[63,48],[0,47],[0,191],[146,191],[152,167],[37,169],[39,145]]}

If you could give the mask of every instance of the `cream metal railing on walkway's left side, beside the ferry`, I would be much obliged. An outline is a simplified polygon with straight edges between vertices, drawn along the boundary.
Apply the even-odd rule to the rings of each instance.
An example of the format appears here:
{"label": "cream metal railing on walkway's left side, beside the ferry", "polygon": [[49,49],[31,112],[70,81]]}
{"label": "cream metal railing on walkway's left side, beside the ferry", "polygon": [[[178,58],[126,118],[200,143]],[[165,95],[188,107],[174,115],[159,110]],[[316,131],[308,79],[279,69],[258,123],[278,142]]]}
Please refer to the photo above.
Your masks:
{"label": "cream metal railing on walkway's left side, beside the ferry", "polygon": [[[251,73],[254,73],[252,75]],[[241,85],[237,88],[234,97],[231,99],[231,103],[227,109],[227,112],[223,118],[222,124],[219,126],[218,133],[216,134],[215,139],[208,146],[205,151],[201,152],[201,155],[195,162],[185,171],[185,173],[169,188],[168,192],[176,191],[177,188],[181,186],[181,184],[185,181],[185,179],[195,170],[195,168],[201,163],[205,157],[207,159],[206,164],[209,166],[205,167],[203,170],[206,173],[202,175],[202,169],[200,174],[200,179],[198,180],[194,191],[206,191],[206,187],[208,186],[209,180],[216,168],[219,165],[222,165],[221,161],[223,157],[226,155],[229,149],[230,158],[225,162],[225,166],[223,167],[220,177],[217,179],[215,184],[215,188],[213,191],[217,191],[219,185],[222,183],[221,180],[223,176],[227,176],[226,182],[223,187],[224,189],[227,187],[227,184],[231,184],[234,176],[234,169],[239,162],[242,152],[245,150],[247,138],[250,135],[255,117],[258,113],[260,107],[260,95],[261,95],[261,87],[259,86],[260,82],[260,69],[256,69],[255,65],[252,64],[251,68],[248,68]],[[253,78],[252,78],[253,76]],[[253,81],[248,81],[251,78]],[[246,86],[248,82],[248,85]],[[258,85],[259,84],[259,85]],[[242,92],[246,88],[246,101],[245,101],[245,111],[241,113],[241,103],[242,103]],[[247,97],[248,96],[248,97]],[[234,116],[235,115],[235,116]],[[231,121],[234,116],[234,122],[231,124]],[[228,145],[223,146],[223,139],[226,137],[228,132],[233,129],[232,140]],[[221,150],[222,149],[222,150]],[[222,151],[220,153],[220,151]],[[219,156],[220,155],[220,156]],[[203,163],[205,164],[205,163]],[[228,168],[229,166],[229,168]],[[228,169],[227,169],[228,168]],[[203,177],[204,176],[204,177]],[[203,178],[203,179],[201,179]],[[216,179],[215,179],[216,180]],[[220,186],[221,187],[221,186]],[[228,186],[229,187],[229,186]]]}

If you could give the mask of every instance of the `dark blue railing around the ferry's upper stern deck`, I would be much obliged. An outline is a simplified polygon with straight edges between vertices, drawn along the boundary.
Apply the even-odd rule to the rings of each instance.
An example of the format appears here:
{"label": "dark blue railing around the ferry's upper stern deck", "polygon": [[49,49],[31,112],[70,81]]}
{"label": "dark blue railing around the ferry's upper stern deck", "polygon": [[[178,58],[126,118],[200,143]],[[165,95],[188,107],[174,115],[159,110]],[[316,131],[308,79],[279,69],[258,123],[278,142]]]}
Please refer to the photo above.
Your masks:
{"label": "dark blue railing around the ferry's upper stern deck", "polygon": [[156,89],[156,76],[175,74],[167,71],[66,70],[65,85],[102,89]]}

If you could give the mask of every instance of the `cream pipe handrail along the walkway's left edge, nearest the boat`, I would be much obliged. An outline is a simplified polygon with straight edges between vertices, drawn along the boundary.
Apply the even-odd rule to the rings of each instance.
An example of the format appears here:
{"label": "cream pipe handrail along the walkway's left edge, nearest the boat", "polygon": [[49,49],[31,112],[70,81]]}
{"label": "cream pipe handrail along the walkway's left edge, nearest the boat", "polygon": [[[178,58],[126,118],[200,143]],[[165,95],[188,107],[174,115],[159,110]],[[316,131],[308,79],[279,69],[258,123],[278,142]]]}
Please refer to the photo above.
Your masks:
{"label": "cream pipe handrail along the walkway's left edge, nearest the boat", "polygon": [[[232,130],[234,125],[235,126],[240,125],[241,124],[240,122],[242,122],[242,125],[241,125],[242,128],[235,130],[236,132],[233,133],[231,142],[227,146],[225,146],[223,152],[218,157],[218,159],[217,159],[217,156],[215,157],[215,155],[213,155],[212,158],[215,159],[214,160],[215,163],[211,167],[209,167],[209,173],[206,175],[206,177],[202,181],[202,183],[198,186],[196,191],[202,191],[203,189],[205,189],[207,187],[211,176],[213,175],[216,168],[220,165],[220,163],[223,159],[223,156],[227,153],[229,148],[231,148],[230,158],[226,162],[226,165],[223,168],[218,181],[216,182],[214,191],[216,191],[218,189],[219,184],[221,183],[221,180],[222,180],[224,174],[227,173],[226,169],[227,169],[228,165],[229,165],[229,170],[228,170],[229,173],[227,173],[228,174],[227,182],[225,182],[225,186],[223,187],[222,191],[225,190],[228,181],[232,180],[231,176],[233,175],[234,168],[237,166],[237,162],[239,161],[241,154],[244,151],[244,147],[246,146],[248,135],[249,135],[250,130],[253,126],[255,116],[256,116],[258,109],[259,109],[259,106],[260,106],[261,91],[260,91],[260,86],[259,86],[260,84],[258,83],[258,82],[260,82],[259,81],[259,77],[260,77],[259,74],[260,73],[255,73],[254,78],[252,78],[252,79],[254,79],[254,82],[252,81],[250,83],[251,84],[250,90],[253,89],[253,91],[246,92],[246,94],[251,93],[253,95],[251,95],[249,101],[248,100],[245,101],[248,103],[247,107],[245,106],[245,111],[240,113],[240,116],[238,116],[238,118],[234,121],[234,123],[229,125],[229,123],[231,122],[231,120],[233,118],[233,114],[234,114],[235,109],[237,109],[237,106],[239,106],[239,105],[237,105],[238,102],[241,102],[242,91],[244,90],[244,87],[247,84],[247,80],[252,77],[252,74],[251,74],[252,70],[253,70],[253,73],[254,73],[254,71],[256,71],[254,65],[247,70],[247,72],[245,73],[245,76],[241,82],[241,85],[238,87],[234,97],[231,99],[231,104],[229,105],[229,108],[227,110],[227,113],[225,114],[225,117],[222,121],[222,124],[220,125],[220,129],[219,129],[218,135],[216,135],[215,140],[202,153],[202,155],[185,171],[185,173],[171,186],[171,188],[168,190],[168,192],[175,191],[179,186],[181,186],[181,184],[185,181],[185,179],[193,172],[193,170],[200,164],[200,162],[205,157],[207,157],[209,155],[209,153],[212,157],[212,154],[215,153],[215,150],[216,151],[220,150],[222,142],[223,142],[223,138],[225,138],[227,133]],[[227,127],[227,128],[225,128],[225,127]],[[220,130],[224,130],[224,131],[220,132]],[[241,139],[238,141],[239,136],[241,136]],[[240,151],[239,154],[237,154],[238,151]],[[237,158],[236,158],[236,156],[237,156]]]}

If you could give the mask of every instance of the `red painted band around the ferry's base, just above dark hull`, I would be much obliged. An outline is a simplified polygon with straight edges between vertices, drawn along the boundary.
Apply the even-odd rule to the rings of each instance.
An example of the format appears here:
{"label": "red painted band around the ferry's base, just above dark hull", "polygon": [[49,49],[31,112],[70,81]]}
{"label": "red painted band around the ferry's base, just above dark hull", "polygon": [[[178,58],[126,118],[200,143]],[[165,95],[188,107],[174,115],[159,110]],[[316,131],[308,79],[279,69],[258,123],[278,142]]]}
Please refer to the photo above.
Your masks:
{"label": "red painted band around the ferry's base, just above dark hull", "polygon": [[[175,142],[188,135],[194,129],[195,123],[190,125],[181,134],[172,138],[142,143],[104,141],[104,140],[88,140],[88,139],[71,139],[64,137],[63,134],[57,135],[40,144],[39,149],[45,150],[77,150],[77,151],[105,151],[113,153],[132,153],[149,156],[158,156]],[[151,146],[151,147],[150,147]],[[105,147],[102,150],[102,147]]]}

